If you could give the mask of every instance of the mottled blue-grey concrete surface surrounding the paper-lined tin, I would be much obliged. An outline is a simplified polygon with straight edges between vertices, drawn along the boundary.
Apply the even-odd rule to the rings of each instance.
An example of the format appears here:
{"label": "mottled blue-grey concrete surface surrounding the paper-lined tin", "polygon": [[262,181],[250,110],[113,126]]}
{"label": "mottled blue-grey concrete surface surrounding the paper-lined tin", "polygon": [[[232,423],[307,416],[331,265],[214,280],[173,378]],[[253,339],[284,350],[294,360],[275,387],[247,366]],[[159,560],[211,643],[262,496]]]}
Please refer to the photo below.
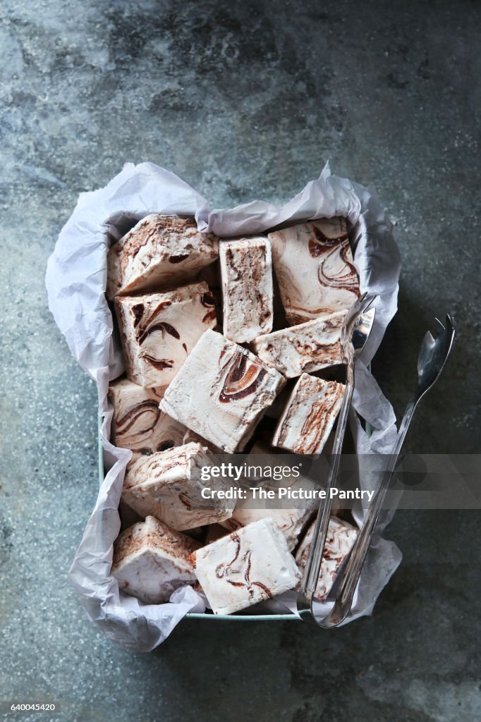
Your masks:
{"label": "mottled blue-grey concrete surface surrounding the paper-lined tin", "polygon": [[331,634],[189,621],[150,655],[100,635],[66,577],[95,500],[95,388],[43,282],[78,193],[127,160],[228,206],[285,201],[329,158],[397,223],[400,311],[374,370],[398,412],[433,317],[459,322],[410,451],[479,451],[480,21],[468,0],[2,2],[2,700],[56,700],[70,722],[480,718],[475,512],[399,512],[402,567],[372,618]]}

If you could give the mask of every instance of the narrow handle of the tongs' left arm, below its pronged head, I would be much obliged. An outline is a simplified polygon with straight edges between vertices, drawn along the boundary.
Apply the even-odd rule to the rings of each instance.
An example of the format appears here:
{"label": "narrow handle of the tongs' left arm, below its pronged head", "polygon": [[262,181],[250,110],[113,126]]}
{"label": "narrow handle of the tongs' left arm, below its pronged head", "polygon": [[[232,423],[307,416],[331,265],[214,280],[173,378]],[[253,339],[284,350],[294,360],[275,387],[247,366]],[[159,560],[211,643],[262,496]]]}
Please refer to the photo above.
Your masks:
{"label": "narrow handle of the tongs' left arm, below its pronged head", "polygon": [[303,618],[316,622],[313,618],[312,600],[313,594],[321,573],[322,556],[324,554],[324,546],[326,544],[327,529],[329,526],[329,518],[332,510],[332,499],[330,498],[330,490],[334,486],[339,472],[339,461],[341,458],[342,442],[344,440],[345,430],[347,426],[347,417],[352,401],[352,393],[354,392],[354,371],[351,365],[347,366],[347,379],[342,397],[342,406],[339,412],[336,434],[334,436],[334,444],[332,447],[332,466],[329,470],[329,477],[325,487],[326,499],[319,512],[316,520],[316,528],[313,534],[313,543],[311,544],[311,552],[306,562],[303,578],[300,582],[298,593],[298,612]]}

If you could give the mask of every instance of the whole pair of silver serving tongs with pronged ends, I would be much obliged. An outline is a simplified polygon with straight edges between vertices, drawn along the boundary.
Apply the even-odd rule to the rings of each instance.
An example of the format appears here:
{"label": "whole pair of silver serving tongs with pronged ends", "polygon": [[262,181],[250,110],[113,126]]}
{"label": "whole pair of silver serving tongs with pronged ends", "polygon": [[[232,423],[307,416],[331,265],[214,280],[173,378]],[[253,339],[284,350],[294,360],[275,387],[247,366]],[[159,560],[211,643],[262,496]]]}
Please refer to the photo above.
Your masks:
{"label": "whole pair of silver serving tongs with pronged ends", "polygon": [[372,307],[372,304],[375,299],[376,296],[374,295],[364,294],[358,302],[352,306],[345,318],[342,330],[342,348],[344,349],[345,364],[347,366],[345,393],[339,413],[336,435],[334,437],[332,466],[326,485],[326,500],[318,512],[311,552],[298,593],[298,612],[300,617],[326,629],[339,626],[350,612],[365,558],[376,531],[379,516],[381,515],[384,498],[391,484],[394,470],[397,467],[399,453],[406,438],[407,430],[414,417],[415,409],[425,393],[433,387],[441,375],[456,337],[454,318],[449,314],[446,314],[446,326],[443,326],[441,321],[436,318],[435,335],[433,336],[430,331],[427,331],[424,336],[417,359],[417,389],[415,395],[409,404],[407,404],[404,417],[399,427],[396,443],[391,454],[388,456],[387,466],[381,483],[371,501],[371,505],[363,521],[363,526],[361,526],[347,562],[345,562],[343,570],[337,579],[338,591],[334,606],[326,617],[319,618],[313,609],[313,595],[321,572],[327,529],[332,511],[332,500],[329,498],[329,490],[334,487],[334,482],[339,472],[342,442],[344,440],[347,416],[354,391],[354,367],[373,327],[376,310]]}

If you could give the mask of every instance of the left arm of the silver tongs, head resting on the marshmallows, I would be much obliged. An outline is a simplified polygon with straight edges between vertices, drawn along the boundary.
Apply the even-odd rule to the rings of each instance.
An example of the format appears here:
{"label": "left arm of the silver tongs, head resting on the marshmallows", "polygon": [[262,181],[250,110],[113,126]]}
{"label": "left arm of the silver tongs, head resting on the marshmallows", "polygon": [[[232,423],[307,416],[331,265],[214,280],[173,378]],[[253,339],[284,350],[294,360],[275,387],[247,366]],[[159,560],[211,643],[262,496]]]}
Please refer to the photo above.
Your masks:
{"label": "left arm of the silver tongs, head resting on the marshmallows", "polygon": [[324,546],[326,544],[327,528],[329,526],[329,518],[332,510],[332,499],[330,499],[330,490],[334,487],[339,472],[339,461],[342,451],[342,442],[344,440],[345,430],[347,426],[347,417],[352,401],[352,393],[354,392],[354,367],[360,357],[365,343],[371,334],[374,318],[376,316],[376,308],[371,308],[376,295],[365,293],[358,301],[352,305],[347,313],[345,322],[342,326],[341,344],[344,355],[344,363],[346,365],[346,386],[344,396],[342,398],[342,406],[337,420],[337,429],[334,436],[334,444],[332,448],[332,466],[329,470],[329,477],[325,487],[326,500],[324,505],[319,509],[316,521],[316,529],[311,544],[311,552],[306,563],[303,579],[300,582],[300,590],[298,593],[298,612],[301,617],[311,619],[316,622],[313,615],[312,603],[313,593],[316,589],[321,571],[322,555],[324,554]]}

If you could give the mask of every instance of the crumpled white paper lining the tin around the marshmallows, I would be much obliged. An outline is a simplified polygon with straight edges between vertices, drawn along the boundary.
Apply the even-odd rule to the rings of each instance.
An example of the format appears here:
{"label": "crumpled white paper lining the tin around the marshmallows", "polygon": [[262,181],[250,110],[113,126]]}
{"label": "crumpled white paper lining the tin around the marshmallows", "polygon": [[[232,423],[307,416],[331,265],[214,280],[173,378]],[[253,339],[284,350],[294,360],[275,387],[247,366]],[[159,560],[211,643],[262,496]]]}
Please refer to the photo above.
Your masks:
{"label": "crumpled white paper lining the tin around the marshmallows", "polygon": [[[396,435],[391,405],[366,368],[396,313],[400,269],[391,224],[372,188],[331,175],[327,164],[319,178],[285,206],[253,201],[215,211],[173,173],[152,163],[129,163],[105,188],[82,193],[48,260],[45,284],[49,308],[72,355],[97,382],[108,473],[71,565],[70,577],[89,617],[114,643],[134,651],[152,650],[185,614],[204,611],[202,598],[189,586],[175,591],[167,604],[144,604],[119,592],[115,578],[110,576],[113,541],[120,529],[118,501],[131,452],[108,441],[112,418],[108,383],[123,372],[123,358],[112,334],[113,320],[105,300],[106,256],[111,239],[123,232],[126,217],[133,225],[153,212],[194,215],[199,230],[213,231],[221,237],[264,232],[316,217],[347,217],[355,227],[353,245],[361,291],[374,291],[379,296],[376,323],[363,352],[363,365],[356,371],[353,408],[373,430],[368,438],[352,413],[358,453],[387,453]],[[355,518],[357,523],[362,521],[362,508],[355,512]],[[371,614],[378,594],[400,560],[401,553],[393,542],[381,537],[375,540],[347,622]],[[263,604],[269,612],[295,613],[295,594],[287,592]],[[324,607],[329,609],[328,604]]]}

